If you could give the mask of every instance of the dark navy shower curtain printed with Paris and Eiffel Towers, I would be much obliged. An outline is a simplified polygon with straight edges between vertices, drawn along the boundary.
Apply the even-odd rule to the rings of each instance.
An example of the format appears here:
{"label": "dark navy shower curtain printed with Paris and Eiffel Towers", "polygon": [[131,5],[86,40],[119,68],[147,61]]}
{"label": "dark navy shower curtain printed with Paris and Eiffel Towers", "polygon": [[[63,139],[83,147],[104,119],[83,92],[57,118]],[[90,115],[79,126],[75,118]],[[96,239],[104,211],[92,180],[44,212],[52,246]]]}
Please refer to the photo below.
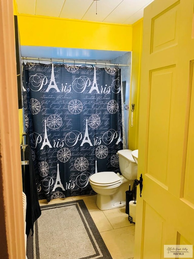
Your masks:
{"label": "dark navy shower curtain printed with Paris and Eiffel Towers", "polygon": [[92,194],[89,176],[120,172],[119,68],[26,63],[23,87],[39,199]]}

